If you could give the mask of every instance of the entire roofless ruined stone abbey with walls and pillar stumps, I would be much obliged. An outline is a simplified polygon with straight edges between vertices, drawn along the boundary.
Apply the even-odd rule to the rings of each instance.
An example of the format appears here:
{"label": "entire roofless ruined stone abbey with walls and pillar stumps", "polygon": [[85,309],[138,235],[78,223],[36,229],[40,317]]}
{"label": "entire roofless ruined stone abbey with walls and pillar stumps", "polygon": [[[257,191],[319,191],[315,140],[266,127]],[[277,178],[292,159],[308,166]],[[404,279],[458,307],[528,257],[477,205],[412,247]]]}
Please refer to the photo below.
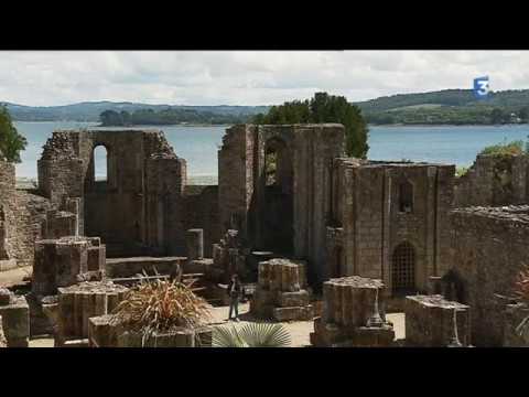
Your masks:
{"label": "entire roofless ruined stone abbey with walls and pillar stumps", "polygon": [[55,131],[31,191],[0,160],[0,271],[33,267],[26,297],[0,288],[8,345],[89,339],[109,304],[78,303],[77,286],[110,302],[118,281],[175,268],[199,275],[210,301],[239,273],[257,286],[252,311],[314,320],[316,346],[395,345],[390,312],[406,313],[410,346],[447,345],[454,330],[465,346],[525,343],[505,297],[529,262],[527,157],[478,155],[455,178],[450,164],[346,158],[342,125],[238,125],[218,185],[191,185],[176,153],[161,131]]}

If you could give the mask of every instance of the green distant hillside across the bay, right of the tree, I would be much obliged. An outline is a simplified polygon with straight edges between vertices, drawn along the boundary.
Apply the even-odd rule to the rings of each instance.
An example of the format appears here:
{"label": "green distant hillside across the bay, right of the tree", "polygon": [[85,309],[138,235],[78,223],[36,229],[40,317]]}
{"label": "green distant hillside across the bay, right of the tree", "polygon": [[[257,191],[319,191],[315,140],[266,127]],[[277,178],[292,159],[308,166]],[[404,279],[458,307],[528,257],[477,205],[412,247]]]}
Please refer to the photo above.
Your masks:
{"label": "green distant hillside across the bay, right of the tree", "polygon": [[493,92],[476,100],[471,89],[399,94],[355,103],[370,124],[511,124],[529,121],[529,89]]}

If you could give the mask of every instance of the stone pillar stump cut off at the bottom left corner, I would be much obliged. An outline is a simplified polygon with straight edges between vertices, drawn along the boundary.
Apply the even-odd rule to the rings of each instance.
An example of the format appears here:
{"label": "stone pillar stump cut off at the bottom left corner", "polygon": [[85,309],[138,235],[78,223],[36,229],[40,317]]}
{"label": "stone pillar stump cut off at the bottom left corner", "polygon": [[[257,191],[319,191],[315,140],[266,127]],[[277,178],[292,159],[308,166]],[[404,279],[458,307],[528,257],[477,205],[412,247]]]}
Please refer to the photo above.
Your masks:
{"label": "stone pillar stump cut off at the bottom left corner", "polygon": [[[24,297],[17,297],[0,288],[0,318],[8,347],[28,347],[30,340],[30,310]],[[2,328],[0,326],[0,328]]]}

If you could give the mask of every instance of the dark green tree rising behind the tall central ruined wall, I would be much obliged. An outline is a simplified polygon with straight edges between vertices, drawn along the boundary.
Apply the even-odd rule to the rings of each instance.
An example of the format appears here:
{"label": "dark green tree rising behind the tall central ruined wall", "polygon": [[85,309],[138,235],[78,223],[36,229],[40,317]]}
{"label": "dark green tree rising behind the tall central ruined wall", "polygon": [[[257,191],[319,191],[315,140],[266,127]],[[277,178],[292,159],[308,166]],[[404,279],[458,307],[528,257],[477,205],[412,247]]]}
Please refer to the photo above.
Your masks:
{"label": "dark green tree rising behind the tall central ruined wall", "polygon": [[347,155],[366,158],[368,128],[361,110],[343,96],[316,93],[305,100],[287,101],[272,106],[268,114],[253,117],[255,124],[339,122],[345,127]]}

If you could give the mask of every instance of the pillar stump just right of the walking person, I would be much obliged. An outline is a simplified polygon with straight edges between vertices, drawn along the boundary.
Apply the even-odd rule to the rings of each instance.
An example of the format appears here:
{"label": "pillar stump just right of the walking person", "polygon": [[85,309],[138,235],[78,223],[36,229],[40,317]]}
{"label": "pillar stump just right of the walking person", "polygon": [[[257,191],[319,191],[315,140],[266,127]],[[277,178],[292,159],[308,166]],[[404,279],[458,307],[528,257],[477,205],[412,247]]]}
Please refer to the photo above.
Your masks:
{"label": "pillar stump just right of the walking person", "polygon": [[277,321],[312,320],[313,308],[306,290],[306,262],[291,259],[260,262],[250,312]]}

